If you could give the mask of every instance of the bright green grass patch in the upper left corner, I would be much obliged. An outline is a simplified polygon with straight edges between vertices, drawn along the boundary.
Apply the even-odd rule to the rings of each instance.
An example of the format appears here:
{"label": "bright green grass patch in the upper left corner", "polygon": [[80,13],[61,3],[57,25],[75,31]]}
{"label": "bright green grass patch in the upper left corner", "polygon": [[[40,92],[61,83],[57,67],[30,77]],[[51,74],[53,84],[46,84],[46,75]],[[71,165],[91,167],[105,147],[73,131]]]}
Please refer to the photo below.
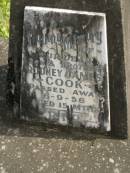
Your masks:
{"label": "bright green grass patch in the upper left corner", "polygon": [[0,0],[0,37],[9,37],[10,0]]}

